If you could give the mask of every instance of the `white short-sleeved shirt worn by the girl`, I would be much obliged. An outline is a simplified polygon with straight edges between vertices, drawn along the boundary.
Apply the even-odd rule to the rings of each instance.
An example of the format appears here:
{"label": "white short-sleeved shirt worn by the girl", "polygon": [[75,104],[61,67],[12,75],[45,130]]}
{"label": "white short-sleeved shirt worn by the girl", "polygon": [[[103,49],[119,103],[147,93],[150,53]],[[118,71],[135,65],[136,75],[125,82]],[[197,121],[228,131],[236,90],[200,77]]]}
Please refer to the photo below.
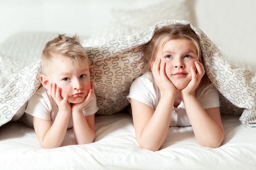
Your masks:
{"label": "white short-sleeved shirt worn by the girl", "polygon": [[[131,98],[135,99],[155,110],[161,97],[162,92],[158,88],[152,72],[147,72],[132,82],[127,99],[129,102]],[[220,106],[218,90],[213,84],[198,89],[195,97],[204,109]],[[177,108],[173,107],[170,126],[191,126],[183,102]]]}

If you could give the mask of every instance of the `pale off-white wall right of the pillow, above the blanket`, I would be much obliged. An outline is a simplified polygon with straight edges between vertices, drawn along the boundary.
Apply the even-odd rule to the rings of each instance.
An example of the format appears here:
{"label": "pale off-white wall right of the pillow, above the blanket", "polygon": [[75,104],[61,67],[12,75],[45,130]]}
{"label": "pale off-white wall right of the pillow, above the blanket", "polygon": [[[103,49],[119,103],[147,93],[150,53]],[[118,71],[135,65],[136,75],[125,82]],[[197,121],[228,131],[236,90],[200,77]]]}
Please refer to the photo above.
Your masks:
{"label": "pale off-white wall right of the pillow, above the blanket", "polygon": [[196,0],[197,26],[231,59],[256,64],[255,9],[255,0]]}

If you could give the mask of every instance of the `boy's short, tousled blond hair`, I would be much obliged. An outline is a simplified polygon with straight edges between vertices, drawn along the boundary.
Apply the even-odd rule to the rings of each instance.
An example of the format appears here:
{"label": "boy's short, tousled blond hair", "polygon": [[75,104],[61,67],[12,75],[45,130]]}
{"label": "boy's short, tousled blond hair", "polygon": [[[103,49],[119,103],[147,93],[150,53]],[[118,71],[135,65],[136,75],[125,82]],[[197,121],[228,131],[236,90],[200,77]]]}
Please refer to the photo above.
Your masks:
{"label": "boy's short, tousled blond hair", "polygon": [[54,55],[62,55],[72,60],[73,64],[79,64],[88,59],[88,55],[80,43],[79,36],[75,34],[68,37],[65,34],[58,34],[58,37],[47,42],[41,56],[42,73],[47,74],[52,66]]}

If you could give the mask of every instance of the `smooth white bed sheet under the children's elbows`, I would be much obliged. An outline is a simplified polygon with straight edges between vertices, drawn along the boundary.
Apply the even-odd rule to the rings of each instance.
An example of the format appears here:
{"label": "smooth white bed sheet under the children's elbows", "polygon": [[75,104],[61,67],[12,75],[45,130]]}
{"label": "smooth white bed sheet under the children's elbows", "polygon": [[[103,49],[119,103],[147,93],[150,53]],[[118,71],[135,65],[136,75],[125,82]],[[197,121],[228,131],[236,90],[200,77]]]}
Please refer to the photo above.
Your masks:
{"label": "smooth white bed sheet under the children's elbows", "polygon": [[[0,127],[0,170],[254,170],[256,128],[239,116],[222,116],[225,139],[220,148],[200,146],[191,126],[171,127],[161,150],[141,149],[128,113],[97,116],[95,142],[40,147],[34,129],[20,122]],[[68,139],[68,138],[67,138]]]}

